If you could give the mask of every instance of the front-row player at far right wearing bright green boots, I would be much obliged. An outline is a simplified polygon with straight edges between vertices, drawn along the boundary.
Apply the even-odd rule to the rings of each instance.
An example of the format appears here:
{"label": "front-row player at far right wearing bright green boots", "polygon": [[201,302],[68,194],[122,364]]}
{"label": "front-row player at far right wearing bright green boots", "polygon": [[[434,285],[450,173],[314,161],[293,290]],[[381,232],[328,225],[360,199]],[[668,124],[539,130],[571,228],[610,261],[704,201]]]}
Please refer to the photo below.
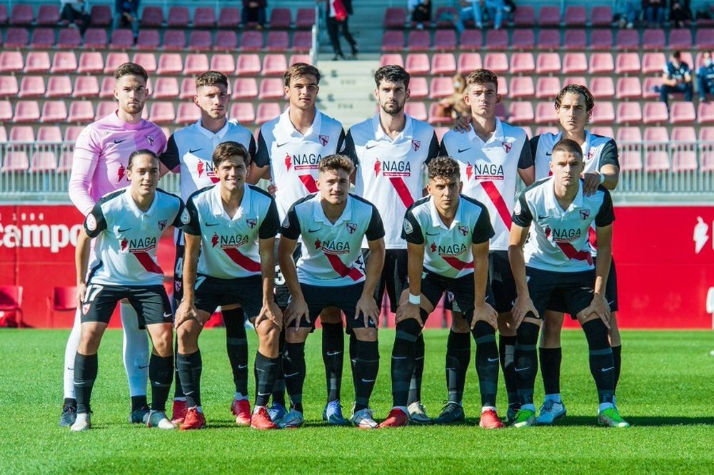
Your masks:
{"label": "front-row player at far right wearing bright green boots", "polygon": [[[553,176],[538,180],[522,194],[513,210],[508,257],[518,298],[513,305],[517,329],[516,379],[521,409],[514,427],[536,423],[533,384],[538,372],[535,344],[540,315],[553,299],[575,315],[590,349],[590,372],[598,388],[598,424],[629,427],[613,404],[615,364],[608,342],[610,309],[605,289],[612,257],[613,203],[598,186],[585,193],[580,178],[585,165],[577,142],[565,138],[552,148]],[[593,263],[589,235],[595,224],[598,260]],[[525,246],[525,247],[524,247]]]}

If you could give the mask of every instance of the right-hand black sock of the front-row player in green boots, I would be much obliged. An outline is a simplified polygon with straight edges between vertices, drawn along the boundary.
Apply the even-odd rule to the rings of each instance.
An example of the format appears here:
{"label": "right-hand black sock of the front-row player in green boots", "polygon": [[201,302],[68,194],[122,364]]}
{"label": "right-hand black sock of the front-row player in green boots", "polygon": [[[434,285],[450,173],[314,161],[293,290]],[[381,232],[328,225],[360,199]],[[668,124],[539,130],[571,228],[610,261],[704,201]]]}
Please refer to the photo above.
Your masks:
{"label": "right-hand black sock of the front-row player in green boots", "polygon": [[613,349],[610,348],[608,339],[608,327],[598,318],[583,323],[583,331],[588,339],[590,373],[593,374],[595,387],[598,388],[598,401],[600,404],[612,403],[615,394],[615,364]]}

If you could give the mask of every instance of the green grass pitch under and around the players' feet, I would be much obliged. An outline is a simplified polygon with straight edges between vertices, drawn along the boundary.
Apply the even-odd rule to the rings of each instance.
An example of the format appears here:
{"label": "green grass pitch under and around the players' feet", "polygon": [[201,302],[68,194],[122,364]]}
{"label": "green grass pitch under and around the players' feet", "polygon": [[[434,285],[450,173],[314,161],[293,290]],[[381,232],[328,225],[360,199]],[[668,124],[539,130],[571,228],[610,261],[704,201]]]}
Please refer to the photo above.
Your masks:
{"label": "green grass pitch under and around the players' feet", "polygon": [[[259,432],[234,427],[233,395],[223,330],[201,337],[203,407],[208,428],[159,431],[127,422],[129,394],[121,364],[121,332],[107,332],[99,352],[91,431],[57,427],[66,330],[0,332],[0,473],[713,473],[714,337],[710,332],[623,332],[618,406],[630,429],[595,425],[595,389],[582,332],[563,332],[561,389],[568,417],[558,427],[485,431],[478,424],[476,372],[469,369],[467,422],[456,427],[361,431],[326,427],[319,332],[308,338],[306,425]],[[426,332],[423,402],[432,416],[446,397],[447,333]],[[391,405],[393,331],[380,332],[381,367],[372,407]],[[251,335],[251,352],[256,339]],[[473,357],[473,345],[472,345]],[[252,355],[251,355],[252,367]],[[501,379],[502,380],[502,379]],[[251,392],[253,376],[251,371]],[[536,400],[543,396],[540,375]],[[506,407],[499,394],[499,414]],[[348,365],[343,403],[353,389]],[[252,399],[252,396],[251,396]]]}

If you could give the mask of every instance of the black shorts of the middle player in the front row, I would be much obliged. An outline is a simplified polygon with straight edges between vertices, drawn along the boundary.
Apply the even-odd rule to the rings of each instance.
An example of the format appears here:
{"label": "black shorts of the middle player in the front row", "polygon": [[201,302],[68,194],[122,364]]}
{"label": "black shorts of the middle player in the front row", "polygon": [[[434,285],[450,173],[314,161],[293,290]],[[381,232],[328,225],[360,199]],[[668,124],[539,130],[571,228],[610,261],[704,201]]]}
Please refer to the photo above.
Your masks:
{"label": "black shorts of the middle player in the front row", "polygon": [[[326,307],[337,307],[345,312],[347,331],[354,328],[364,328],[364,318],[362,315],[355,315],[357,302],[362,296],[364,282],[342,287],[323,287],[321,285],[300,284],[300,289],[305,297],[310,312],[310,322],[304,317],[300,320],[303,328],[315,328],[315,321],[323,309]],[[356,318],[357,317],[357,318]],[[376,328],[374,322],[369,320],[369,328]]]}

